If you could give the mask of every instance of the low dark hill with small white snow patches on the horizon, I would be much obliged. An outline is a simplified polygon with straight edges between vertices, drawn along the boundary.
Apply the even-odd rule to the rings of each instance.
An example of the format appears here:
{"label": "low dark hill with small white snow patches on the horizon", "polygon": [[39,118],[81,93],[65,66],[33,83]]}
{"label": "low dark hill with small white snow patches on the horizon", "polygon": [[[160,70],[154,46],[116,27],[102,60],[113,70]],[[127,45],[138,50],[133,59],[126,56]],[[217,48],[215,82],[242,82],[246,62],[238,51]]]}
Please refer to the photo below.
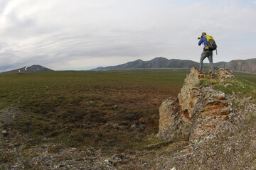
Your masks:
{"label": "low dark hill with small white snow patches on the horizon", "polygon": [[17,74],[17,73],[33,73],[33,72],[49,72],[53,71],[52,69],[48,69],[41,65],[32,65],[31,67],[22,67],[20,69],[13,69],[8,72],[1,72],[0,74]]}

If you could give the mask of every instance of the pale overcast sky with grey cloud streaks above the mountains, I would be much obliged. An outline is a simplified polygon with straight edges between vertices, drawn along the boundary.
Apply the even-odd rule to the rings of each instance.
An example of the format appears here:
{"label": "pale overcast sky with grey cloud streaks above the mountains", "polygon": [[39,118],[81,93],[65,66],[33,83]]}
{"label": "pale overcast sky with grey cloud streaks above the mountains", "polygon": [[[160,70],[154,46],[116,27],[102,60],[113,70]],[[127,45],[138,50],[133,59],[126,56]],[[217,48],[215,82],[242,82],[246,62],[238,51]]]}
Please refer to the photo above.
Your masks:
{"label": "pale overcast sky with grey cloud streaks above the mountains", "polygon": [[213,62],[255,58],[256,0],[0,0],[0,72],[198,62],[203,31],[218,45]]}

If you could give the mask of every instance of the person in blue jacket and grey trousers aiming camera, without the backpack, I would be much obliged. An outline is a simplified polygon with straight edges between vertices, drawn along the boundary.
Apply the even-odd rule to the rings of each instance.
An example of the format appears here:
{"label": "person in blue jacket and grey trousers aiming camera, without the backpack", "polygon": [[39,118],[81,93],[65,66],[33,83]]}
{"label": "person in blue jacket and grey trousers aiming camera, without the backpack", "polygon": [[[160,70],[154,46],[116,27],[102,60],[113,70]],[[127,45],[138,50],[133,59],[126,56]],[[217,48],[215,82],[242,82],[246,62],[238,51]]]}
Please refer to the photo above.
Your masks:
{"label": "person in blue jacket and grey trousers aiming camera, without the backpack", "polygon": [[211,71],[212,71],[212,75],[211,75],[210,78],[213,78],[213,77],[215,77],[215,70],[214,70],[214,67],[213,67],[213,50],[209,49],[208,43],[207,43],[208,40],[207,40],[206,36],[212,38],[211,36],[206,35],[206,32],[202,33],[201,38],[198,37],[198,40],[199,40],[198,45],[200,46],[203,43],[204,47],[203,47],[203,52],[202,52],[201,58],[200,58],[199,70],[197,72],[199,74],[202,73],[203,60],[205,60],[205,58],[208,57],[208,60],[210,62],[210,68],[211,68]]}

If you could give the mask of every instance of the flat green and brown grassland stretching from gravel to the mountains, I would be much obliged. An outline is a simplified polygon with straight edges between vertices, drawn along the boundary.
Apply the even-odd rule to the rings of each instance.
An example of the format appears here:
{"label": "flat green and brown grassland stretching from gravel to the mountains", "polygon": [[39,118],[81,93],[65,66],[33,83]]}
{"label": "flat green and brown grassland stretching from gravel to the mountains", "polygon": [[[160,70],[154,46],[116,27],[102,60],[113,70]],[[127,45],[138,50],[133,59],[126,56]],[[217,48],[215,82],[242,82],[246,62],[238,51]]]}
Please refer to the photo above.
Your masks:
{"label": "flat green and brown grassland stretching from gravel to the mountains", "polygon": [[[11,128],[31,137],[27,145],[141,149],[156,142],[151,136],[158,132],[159,106],[177,96],[188,72],[136,69],[3,75],[0,109],[14,107],[24,113]],[[235,76],[256,84],[256,74]]]}

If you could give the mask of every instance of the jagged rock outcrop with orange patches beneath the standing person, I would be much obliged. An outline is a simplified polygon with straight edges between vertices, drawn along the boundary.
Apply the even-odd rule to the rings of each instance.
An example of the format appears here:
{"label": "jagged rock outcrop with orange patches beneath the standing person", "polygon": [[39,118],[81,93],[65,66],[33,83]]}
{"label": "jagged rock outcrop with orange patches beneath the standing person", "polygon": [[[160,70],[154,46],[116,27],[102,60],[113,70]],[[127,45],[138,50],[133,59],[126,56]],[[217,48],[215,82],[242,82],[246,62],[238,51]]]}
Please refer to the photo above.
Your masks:
{"label": "jagged rock outcrop with orange patches beneath the standing person", "polygon": [[[233,79],[229,69],[216,69],[216,78],[198,74],[196,67],[187,75],[177,98],[168,98],[159,108],[159,137],[162,140],[185,138],[193,142],[208,135],[232,108],[231,101],[221,92],[213,89],[213,84]],[[208,81],[203,86],[202,81]]]}

